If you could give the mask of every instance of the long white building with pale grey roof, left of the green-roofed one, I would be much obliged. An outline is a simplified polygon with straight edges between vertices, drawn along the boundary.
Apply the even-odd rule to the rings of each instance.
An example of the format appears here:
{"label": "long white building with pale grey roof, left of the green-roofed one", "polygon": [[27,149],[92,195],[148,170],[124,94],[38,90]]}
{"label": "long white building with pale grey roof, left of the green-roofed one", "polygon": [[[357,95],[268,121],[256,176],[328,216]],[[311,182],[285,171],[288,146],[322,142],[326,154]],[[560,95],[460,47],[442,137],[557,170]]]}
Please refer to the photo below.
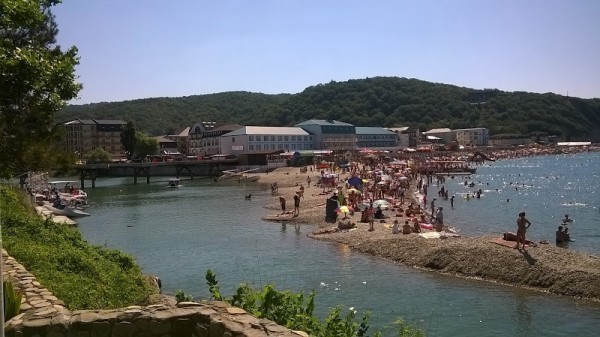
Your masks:
{"label": "long white building with pale grey roof, left of the green-roofed one", "polygon": [[244,126],[220,137],[221,153],[314,149],[314,136],[299,127]]}

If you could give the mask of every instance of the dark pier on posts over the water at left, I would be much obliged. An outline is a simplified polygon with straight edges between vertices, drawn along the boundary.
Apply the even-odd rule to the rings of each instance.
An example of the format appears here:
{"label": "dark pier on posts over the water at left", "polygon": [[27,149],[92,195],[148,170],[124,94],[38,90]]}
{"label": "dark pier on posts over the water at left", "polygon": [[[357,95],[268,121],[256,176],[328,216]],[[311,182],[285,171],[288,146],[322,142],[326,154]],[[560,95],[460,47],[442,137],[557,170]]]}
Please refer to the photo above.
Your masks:
{"label": "dark pier on posts over the water at left", "polygon": [[225,170],[234,169],[238,165],[237,159],[219,160],[189,160],[170,162],[146,162],[146,163],[95,163],[75,165],[81,183],[81,189],[85,188],[85,180],[92,181],[92,188],[96,187],[96,178],[104,177],[133,177],[133,183],[137,184],[138,178],[146,178],[146,184],[150,183],[153,176],[189,176],[214,177]]}

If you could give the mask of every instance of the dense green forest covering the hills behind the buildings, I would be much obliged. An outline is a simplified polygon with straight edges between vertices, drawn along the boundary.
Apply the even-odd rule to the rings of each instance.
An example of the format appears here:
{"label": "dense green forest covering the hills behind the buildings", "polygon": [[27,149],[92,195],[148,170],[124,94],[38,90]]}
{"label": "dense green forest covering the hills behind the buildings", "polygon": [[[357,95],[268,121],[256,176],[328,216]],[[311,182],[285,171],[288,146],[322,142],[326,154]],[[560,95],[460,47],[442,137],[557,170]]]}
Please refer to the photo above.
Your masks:
{"label": "dense green forest covering the hills behind the buildings", "polygon": [[422,131],[486,127],[490,134],[548,132],[564,140],[600,140],[600,99],[552,93],[470,89],[417,79],[375,77],[330,82],[298,94],[224,92],[178,98],[70,105],[57,122],[123,119],[153,135],[199,121],[289,126],[335,119],[356,126],[411,126]]}

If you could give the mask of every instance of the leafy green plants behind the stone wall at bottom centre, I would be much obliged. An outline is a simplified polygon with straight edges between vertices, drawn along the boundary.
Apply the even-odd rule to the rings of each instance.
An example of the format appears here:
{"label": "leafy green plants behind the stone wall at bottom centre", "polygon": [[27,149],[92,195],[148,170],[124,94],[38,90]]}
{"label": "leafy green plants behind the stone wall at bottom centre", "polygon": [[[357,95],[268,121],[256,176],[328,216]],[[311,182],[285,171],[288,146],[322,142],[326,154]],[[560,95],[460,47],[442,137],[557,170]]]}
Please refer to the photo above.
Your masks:
{"label": "leafy green plants behind the stone wall at bottom centre", "polygon": [[[370,314],[364,313],[360,318],[357,312],[350,308],[344,315],[340,306],[330,309],[329,314],[323,320],[317,318],[315,310],[315,292],[309,295],[304,293],[293,293],[289,290],[280,291],[274,285],[268,284],[262,289],[257,289],[249,284],[242,284],[236,290],[235,295],[230,298],[221,295],[216,275],[208,270],[206,272],[206,284],[215,300],[226,301],[231,305],[246,310],[258,318],[270,319],[277,324],[286,326],[292,330],[307,332],[315,337],[367,337],[369,331]],[[179,291],[177,300],[190,300],[190,296]],[[392,335],[401,337],[421,337],[425,332],[406,324],[402,320],[395,322],[394,326],[388,328],[393,331]],[[382,336],[381,331],[375,331],[372,336]]]}

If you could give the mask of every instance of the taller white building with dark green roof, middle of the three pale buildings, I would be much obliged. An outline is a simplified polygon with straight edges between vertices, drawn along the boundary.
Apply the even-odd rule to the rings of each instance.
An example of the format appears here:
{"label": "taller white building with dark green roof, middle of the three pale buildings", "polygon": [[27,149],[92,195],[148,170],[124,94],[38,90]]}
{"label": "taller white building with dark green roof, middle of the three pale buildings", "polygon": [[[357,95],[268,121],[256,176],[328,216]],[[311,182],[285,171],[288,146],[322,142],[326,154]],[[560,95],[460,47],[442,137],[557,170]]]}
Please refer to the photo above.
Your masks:
{"label": "taller white building with dark green roof, middle of the three pale buildings", "polygon": [[316,149],[333,151],[356,149],[356,129],[352,124],[311,119],[296,126],[314,136]]}

